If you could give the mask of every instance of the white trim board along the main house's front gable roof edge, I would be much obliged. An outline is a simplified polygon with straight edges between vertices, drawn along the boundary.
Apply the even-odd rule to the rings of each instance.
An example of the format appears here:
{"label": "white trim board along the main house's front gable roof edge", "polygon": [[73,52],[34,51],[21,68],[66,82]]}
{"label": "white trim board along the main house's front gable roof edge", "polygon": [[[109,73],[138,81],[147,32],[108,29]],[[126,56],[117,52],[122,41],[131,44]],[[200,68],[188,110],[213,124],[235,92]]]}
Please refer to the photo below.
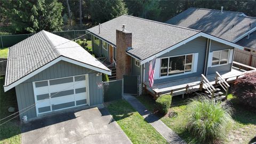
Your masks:
{"label": "white trim board along the main house's front gable roof edge", "polygon": [[167,48],[167,49],[165,49],[165,50],[163,50],[163,51],[161,51],[161,52],[158,52],[158,53],[156,53],[156,54],[154,54],[154,55],[151,55],[151,56],[148,57],[147,59],[141,60],[140,65],[142,65],[142,64],[144,64],[144,63],[146,63],[146,62],[149,62],[150,60],[153,60],[155,57],[159,57],[159,56],[161,56],[161,55],[163,55],[163,54],[165,54],[165,53],[167,53],[167,52],[170,52],[170,51],[176,49],[177,47],[179,47],[179,46],[181,46],[181,45],[183,45],[183,44],[186,44],[186,43],[188,43],[188,42],[192,41],[193,39],[195,39],[195,38],[197,38],[197,37],[200,37],[200,36],[203,36],[203,37],[212,39],[212,40],[214,40],[214,41],[217,41],[217,42],[220,42],[220,43],[223,43],[223,44],[232,46],[232,47],[236,47],[236,48],[241,49],[241,50],[244,49],[243,46],[240,46],[240,45],[237,45],[237,44],[235,44],[235,43],[226,41],[226,40],[224,40],[224,39],[221,39],[221,38],[218,38],[218,37],[215,37],[215,36],[212,36],[212,35],[209,35],[209,34],[200,32],[200,33],[198,33],[198,34],[196,34],[196,35],[194,35],[194,36],[191,36],[191,37],[185,39],[184,41],[182,41],[182,42],[180,42],[180,43],[178,43],[178,44],[175,44],[175,45],[173,45],[173,46],[171,46],[171,47],[169,47],[169,48]]}

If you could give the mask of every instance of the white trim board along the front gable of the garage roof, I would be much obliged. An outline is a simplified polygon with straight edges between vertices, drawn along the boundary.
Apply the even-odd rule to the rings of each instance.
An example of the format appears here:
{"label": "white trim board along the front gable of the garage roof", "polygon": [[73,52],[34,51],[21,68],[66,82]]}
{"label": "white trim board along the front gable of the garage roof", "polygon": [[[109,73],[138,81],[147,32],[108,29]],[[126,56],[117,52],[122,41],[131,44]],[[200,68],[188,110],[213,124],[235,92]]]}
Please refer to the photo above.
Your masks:
{"label": "white trim board along the front gable of the garage roof", "polygon": [[[54,65],[55,63],[59,62],[59,61],[67,61],[67,62],[70,62],[70,63],[73,63],[75,65],[78,65],[78,66],[82,66],[82,67],[85,67],[85,68],[89,68],[89,69],[92,69],[92,70],[95,70],[95,71],[99,71],[100,73],[104,73],[104,74],[107,74],[107,75],[111,75],[111,71],[107,71],[107,70],[103,70],[103,69],[100,69],[100,68],[97,68],[97,67],[93,67],[91,65],[87,65],[86,63],[83,63],[83,62],[79,62],[79,61],[76,61],[76,60],[73,60],[73,59],[69,59],[67,57],[63,57],[63,56],[60,56],[58,57],[57,59],[54,59],[52,60],[51,62],[49,63],[46,63],[46,65],[34,70],[32,73],[20,78],[18,81],[10,84],[10,85],[7,85],[5,86],[4,85],[4,92],[12,89],[12,87],[15,87],[19,84],[21,84],[22,82],[26,81],[27,79],[29,79],[30,77],[33,77],[34,75],[38,74],[39,72],[45,70],[46,68],[49,68],[50,66]],[[103,64],[102,64],[103,65]]]}

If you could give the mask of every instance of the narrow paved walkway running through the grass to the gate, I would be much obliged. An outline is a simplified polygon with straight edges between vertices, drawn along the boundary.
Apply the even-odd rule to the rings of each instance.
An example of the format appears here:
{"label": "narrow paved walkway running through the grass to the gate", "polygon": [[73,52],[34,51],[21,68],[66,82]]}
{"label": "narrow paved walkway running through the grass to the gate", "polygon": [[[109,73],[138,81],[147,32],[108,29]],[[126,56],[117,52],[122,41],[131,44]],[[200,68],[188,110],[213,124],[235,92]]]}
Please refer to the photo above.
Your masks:
{"label": "narrow paved walkway running through the grass to the gate", "polygon": [[151,113],[142,103],[132,95],[124,95],[124,99],[132,105],[169,143],[186,143],[179,135],[167,127],[156,115]]}

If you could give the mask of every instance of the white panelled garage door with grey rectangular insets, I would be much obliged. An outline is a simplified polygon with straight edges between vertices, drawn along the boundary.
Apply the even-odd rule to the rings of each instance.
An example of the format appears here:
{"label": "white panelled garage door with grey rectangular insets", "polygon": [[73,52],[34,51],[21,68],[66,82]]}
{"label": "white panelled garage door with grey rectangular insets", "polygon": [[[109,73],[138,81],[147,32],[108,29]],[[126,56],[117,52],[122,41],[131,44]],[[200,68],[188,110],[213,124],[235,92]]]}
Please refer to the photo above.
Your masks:
{"label": "white panelled garage door with grey rectangular insets", "polygon": [[37,116],[89,104],[88,75],[33,82]]}

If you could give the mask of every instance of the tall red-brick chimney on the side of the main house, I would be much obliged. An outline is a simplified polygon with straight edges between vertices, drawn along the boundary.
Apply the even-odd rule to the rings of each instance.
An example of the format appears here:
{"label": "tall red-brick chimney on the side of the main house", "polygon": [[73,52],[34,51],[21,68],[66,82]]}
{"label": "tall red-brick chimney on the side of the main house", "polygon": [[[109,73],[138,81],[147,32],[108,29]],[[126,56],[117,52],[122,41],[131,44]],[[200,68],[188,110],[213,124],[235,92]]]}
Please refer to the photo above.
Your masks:
{"label": "tall red-brick chimney on the side of the main house", "polygon": [[116,30],[116,79],[131,75],[131,57],[126,54],[128,47],[132,47],[132,33],[123,25],[122,30]]}

